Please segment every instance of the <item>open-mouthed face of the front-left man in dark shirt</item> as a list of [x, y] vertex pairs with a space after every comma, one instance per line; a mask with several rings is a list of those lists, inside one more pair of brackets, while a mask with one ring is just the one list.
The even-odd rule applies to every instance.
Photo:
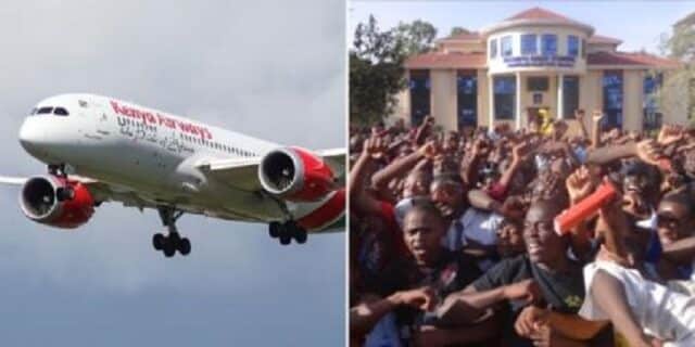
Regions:
[[444, 221], [434, 214], [415, 209], [405, 215], [403, 237], [419, 266], [431, 265], [442, 252], [442, 237], [446, 232]]

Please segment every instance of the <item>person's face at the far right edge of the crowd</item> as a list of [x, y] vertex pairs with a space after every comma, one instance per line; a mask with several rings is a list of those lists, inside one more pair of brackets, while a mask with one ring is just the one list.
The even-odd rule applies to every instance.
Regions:
[[674, 201], [662, 201], [657, 210], [657, 232], [661, 244], [669, 245], [687, 236], [693, 216], [687, 206]]

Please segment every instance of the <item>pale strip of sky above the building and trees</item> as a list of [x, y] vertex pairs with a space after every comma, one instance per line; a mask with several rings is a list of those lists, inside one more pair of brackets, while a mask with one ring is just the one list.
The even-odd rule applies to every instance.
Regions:
[[348, 36], [374, 14], [382, 29], [399, 22], [422, 20], [446, 37], [452, 27], [480, 30], [519, 12], [540, 7], [595, 28], [595, 34], [621, 39], [621, 51], [660, 53], [661, 34], [695, 11], [695, 1], [352, 1], [348, 5]]

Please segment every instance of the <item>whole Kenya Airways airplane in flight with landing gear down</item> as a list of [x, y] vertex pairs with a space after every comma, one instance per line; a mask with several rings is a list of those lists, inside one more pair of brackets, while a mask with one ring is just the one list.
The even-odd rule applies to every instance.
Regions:
[[48, 172], [0, 183], [21, 185], [24, 215], [50, 227], [77, 228], [105, 202], [156, 209], [167, 234], [152, 245], [167, 258], [191, 252], [184, 214], [267, 223], [282, 245], [344, 230], [343, 149], [283, 146], [88, 93], [40, 101], [18, 138]]

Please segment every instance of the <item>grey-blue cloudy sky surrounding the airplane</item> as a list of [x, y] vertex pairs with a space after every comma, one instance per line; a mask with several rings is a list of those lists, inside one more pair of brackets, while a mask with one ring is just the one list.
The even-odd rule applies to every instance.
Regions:
[[[340, 0], [3, 4], [1, 175], [46, 171], [16, 138], [39, 100], [65, 92], [344, 146], [344, 26]], [[0, 187], [3, 345], [343, 345], [344, 233], [283, 247], [264, 224], [184, 216], [192, 253], [165, 259], [152, 210], [103, 204], [64, 231], [27, 220], [17, 195]]]

